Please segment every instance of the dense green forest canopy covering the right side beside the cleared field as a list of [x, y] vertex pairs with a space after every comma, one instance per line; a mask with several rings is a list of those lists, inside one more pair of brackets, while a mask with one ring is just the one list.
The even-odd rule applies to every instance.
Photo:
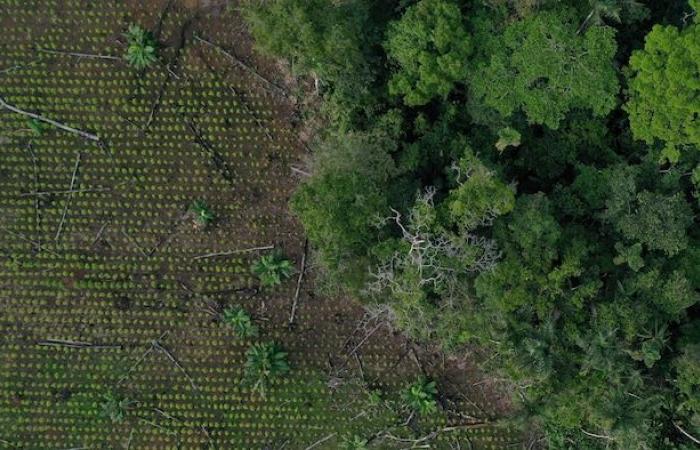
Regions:
[[700, 438], [700, 2], [276, 0], [326, 284], [479, 344], [549, 448]]

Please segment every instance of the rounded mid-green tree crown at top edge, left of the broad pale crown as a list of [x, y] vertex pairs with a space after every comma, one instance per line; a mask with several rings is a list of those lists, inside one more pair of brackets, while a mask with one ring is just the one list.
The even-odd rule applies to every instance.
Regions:
[[409, 6], [389, 25], [385, 47], [398, 64], [389, 92], [403, 96], [407, 105], [445, 98], [455, 83], [466, 80], [472, 43], [456, 1], [420, 0]]

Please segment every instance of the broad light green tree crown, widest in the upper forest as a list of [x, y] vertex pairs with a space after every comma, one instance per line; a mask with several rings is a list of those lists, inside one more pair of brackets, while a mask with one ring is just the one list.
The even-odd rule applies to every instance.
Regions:
[[573, 11], [542, 11], [495, 38], [480, 34], [491, 42], [470, 77], [476, 99], [503, 117], [522, 111], [528, 122], [552, 129], [573, 109], [607, 115], [618, 91], [614, 30], [577, 35], [576, 26]]

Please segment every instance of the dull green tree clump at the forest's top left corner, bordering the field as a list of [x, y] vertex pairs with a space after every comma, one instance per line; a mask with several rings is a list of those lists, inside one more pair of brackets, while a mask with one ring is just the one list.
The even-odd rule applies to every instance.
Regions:
[[315, 78], [333, 127], [347, 130], [372, 114], [381, 95], [371, 64], [381, 39], [375, 22], [384, 10], [367, 0], [249, 0], [243, 12], [258, 50]]

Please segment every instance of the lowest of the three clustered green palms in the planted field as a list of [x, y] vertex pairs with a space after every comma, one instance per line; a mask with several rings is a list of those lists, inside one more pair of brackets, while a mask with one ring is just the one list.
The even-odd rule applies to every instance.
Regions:
[[274, 342], [255, 344], [246, 352], [244, 383], [263, 397], [270, 384], [288, 372], [287, 353]]

